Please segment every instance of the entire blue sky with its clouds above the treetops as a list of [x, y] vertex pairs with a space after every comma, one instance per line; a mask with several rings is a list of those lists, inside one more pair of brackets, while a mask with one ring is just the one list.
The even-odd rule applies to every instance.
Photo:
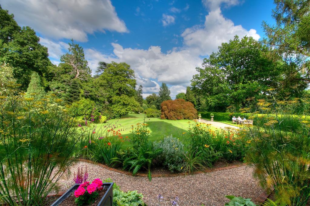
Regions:
[[234, 35], [264, 36], [272, 0], [61, 1], [0, 0], [19, 25], [28, 25], [59, 63], [73, 38], [92, 70], [98, 61], [125, 61], [135, 70], [144, 97], [168, 84], [172, 98], [186, 86], [222, 42]]

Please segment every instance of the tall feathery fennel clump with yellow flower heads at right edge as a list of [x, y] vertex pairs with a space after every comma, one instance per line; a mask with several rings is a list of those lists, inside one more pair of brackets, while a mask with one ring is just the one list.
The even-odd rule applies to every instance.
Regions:
[[[269, 91], [257, 104], [258, 110], [268, 111], [263, 116], [268, 122], [261, 127], [250, 127], [251, 138], [246, 160], [256, 167], [255, 174], [264, 188], [273, 188], [276, 198], [288, 205], [304, 206], [310, 197], [309, 177], [309, 99], [276, 101], [277, 93]], [[303, 113], [292, 114], [303, 105]], [[274, 115], [272, 115], [274, 114]], [[298, 127], [282, 122], [298, 119]], [[289, 129], [288, 129], [289, 128]]]

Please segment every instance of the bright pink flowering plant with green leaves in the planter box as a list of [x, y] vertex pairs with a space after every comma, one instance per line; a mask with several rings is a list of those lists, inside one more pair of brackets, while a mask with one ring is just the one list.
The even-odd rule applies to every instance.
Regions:
[[79, 206], [90, 205], [95, 202], [95, 199], [99, 196], [98, 191], [102, 189], [102, 181], [100, 179], [95, 179], [91, 183], [84, 182], [74, 191], [74, 196], [76, 197], [74, 202]]

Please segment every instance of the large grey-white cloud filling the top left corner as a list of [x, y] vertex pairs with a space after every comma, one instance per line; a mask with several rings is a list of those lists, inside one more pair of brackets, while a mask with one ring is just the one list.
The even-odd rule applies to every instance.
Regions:
[[87, 34], [105, 30], [128, 32], [110, 0], [0, 0], [15, 20], [47, 37], [86, 42]]

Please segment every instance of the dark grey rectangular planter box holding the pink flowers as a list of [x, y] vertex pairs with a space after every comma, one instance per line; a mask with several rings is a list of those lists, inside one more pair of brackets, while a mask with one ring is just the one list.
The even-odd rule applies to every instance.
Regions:
[[[74, 194], [74, 191], [78, 189], [80, 184], [74, 184], [69, 190], [67, 190], [63, 195], [60, 196], [51, 206], [58, 206], [67, 197]], [[97, 206], [113, 206], [113, 182], [103, 183], [102, 186], [107, 188], [107, 191], [101, 198]]]

